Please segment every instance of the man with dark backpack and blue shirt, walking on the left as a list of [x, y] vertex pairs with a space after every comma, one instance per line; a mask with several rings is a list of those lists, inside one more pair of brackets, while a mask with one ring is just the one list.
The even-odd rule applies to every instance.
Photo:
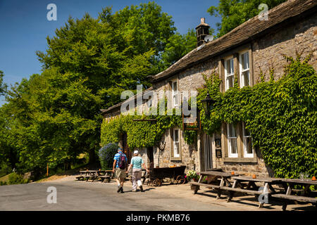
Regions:
[[[118, 193], [123, 193], [123, 183], [125, 182], [125, 169], [128, 165], [128, 159], [125, 153], [122, 152], [122, 148], [118, 148], [118, 153], [113, 158], [113, 169], [112, 172], [116, 174], [116, 181], [118, 184]], [[115, 172], [116, 170], [116, 172]]]

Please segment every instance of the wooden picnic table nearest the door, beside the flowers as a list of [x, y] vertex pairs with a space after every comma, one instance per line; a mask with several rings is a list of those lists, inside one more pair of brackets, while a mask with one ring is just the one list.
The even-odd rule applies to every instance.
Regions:
[[[219, 185], [203, 184], [202, 179], [204, 176], [216, 176], [216, 177], [220, 178], [220, 184]], [[194, 191], [194, 194], [197, 193], [200, 186], [206, 186], [208, 188], [213, 188], [213, 189], [218, 190], [217, 197], [216, 197], [216, 199], [218, 199], [218, 198], [220, 198], [220, 195], [221, 195], [221, 188], [225, 187], [225, 185], [227, 185], [228, 187], [232, 186], [230, 181], [228, 181], [228, 179], [230, 179], [230, 177], [232, 177], [232, 176], [237, 176], [237, 175], [234, 175], [234, 174], [232, 175], [231, 173], [228, 173], [228, 172], [218, 172], [218, 171], [200, 172], [198, 182], [191, 181], [191, 182], [189, 182], [189, 184], [192, 184], [192, 190]]]

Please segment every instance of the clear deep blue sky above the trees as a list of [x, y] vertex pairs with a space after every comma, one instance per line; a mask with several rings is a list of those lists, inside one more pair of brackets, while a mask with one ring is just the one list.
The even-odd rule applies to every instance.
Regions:
[[[97, 18], [101, 8], [113, 6], [113, 12], [125, 6], [138, 5], [149, 1], [125, 0], [0, 0], [0, 70], [4, 72], [4, 82], [14, 84], [23, 77], [41, 72], [41, 63], [35, 51], [46, 50], [46, 37], [53, 37], [56, 28], [65, 25], [68, 17], [82, 18], [86, 12]], [[220, 18], [207, 13], [210, 6], [217, 6], [218, 0], [157, 0], [162, 11], [173, 16], [178, 32], [185, 34], [189, 28], [199, 25], [200, 18], [216, 28]], [[46, 14], [48, 4], [56, 4], [57, 20], [49, 21]], [[0, 105], [4, 98], [0, 98]]]

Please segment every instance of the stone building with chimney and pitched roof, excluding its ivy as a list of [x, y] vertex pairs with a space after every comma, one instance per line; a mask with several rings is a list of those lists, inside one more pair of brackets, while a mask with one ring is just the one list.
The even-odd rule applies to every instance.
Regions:
[[[295, 51], [304, 56], [312, 53], [310, 63], [317, 70], [316, 9], [317, 1], [314, 0], [286, 1], [268, 11], [268, 20], [256, 16], [223, 37], [208, 42], [204, 38], [209, 25], [201, 19], [196, 27], [197, 48], [151, 77], [149, 90], [157, 93], [170, 90], [172, 107], [177, 107], [182, 99], [178, 91], [200, 88], [204, 84], [202, 74], [216, 72], [222, 80], [220, 91], [223, 92], [233, 85], [235, 74], [240, 87], [254, 86], [259, 82], [261, 71], [266, 81], [269, 79], [270, 68], [275, 70], [275, 79], [280, 79], [286, 63], [283, 55], [295, 56]], [[104, 120], [119, 115], [122, 104], [101, 110]], [[127, 149], [124, 134], [120, 140]], [[223, 123], [221, 131], [212, 136], [200, 131], [197, 143], [192, 145], [185, 143], [181, 127], [166, 131], [161, 141], [165, 143], [164, 150], [159, 150], [159, 146], [140, 150], [145, 162], [155, 167], [186, 165], [187, 169], [197, 172], [222, 168], [237, 174], [273, 176], [261, 158], [261, 151], [252, 148], [251, 136], [243, 122]]]

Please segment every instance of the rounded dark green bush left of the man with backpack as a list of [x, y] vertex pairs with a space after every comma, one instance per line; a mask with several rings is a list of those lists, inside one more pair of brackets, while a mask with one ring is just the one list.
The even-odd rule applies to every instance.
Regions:
[[112, 169], [113, 156], [118, 152], [118, 144], [108, 143], [106, 146], [99, 149], [99, 160], [101, 169]]

